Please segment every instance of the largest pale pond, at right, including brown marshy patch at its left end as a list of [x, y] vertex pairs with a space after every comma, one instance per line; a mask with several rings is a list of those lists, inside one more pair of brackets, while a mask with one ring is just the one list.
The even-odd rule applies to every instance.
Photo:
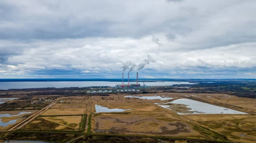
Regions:
[[167, 103], [155, 103], [163, 108], [173, 110], [179, 115], [186, 114], [247, 114], [233, 109], [219, 107], [212, 104], [190, 99], [177, 99]]

